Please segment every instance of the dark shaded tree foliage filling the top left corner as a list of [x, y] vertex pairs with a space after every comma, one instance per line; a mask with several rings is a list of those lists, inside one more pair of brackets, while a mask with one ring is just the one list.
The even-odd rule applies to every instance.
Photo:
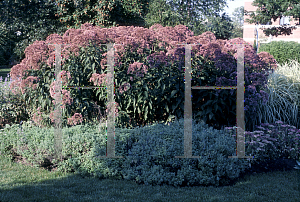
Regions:
[[[36, 40], [45, 40], [52, 33], [67, 30], [55, 16], [55, 7], [48, 0], [18, 0], [0, 2], [0, 21], [5, 34], [0, 35], [5, 43], [4, 57], [20, 61], [25, 57], [25, 48]], [[19, 34], [16, 34], [16, 33]], [[3, 56], [3, 55], [2, 55]]]

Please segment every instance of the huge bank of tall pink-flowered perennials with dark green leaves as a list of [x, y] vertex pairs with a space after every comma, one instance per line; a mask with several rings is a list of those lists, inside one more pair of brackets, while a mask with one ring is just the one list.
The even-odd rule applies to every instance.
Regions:
[[[116, 43], [115, 113], [123, 115], [126, 118], [125, 122], [130, 126], [151, 124], [158, 120], [167, 121], [174, 115], [178, 118], [183, 117], [185, 48], [177, 46], [179, 43], [201, 44], [192, 46], [192, 86], [236, 85], [236, 44], [245, 45], [247, 127], [256, 118], [258, 100], [267, 101], [268, 95], [261, 88], [266, 83], [269, 68], [276, 68], [271, 55], [265, 52], [256, 55], [253, 47], [245, 44], [241, 38], [216, 40], [211, 32], [193, 36], [193, 32], [183, 25], [174, 28], [156, 24], [150, 29], [132, 26], [106, 29], [86, 23], [81, 29], [67, 30], [63, 36], [51, 34], [46, 41], [34, 42], [26, 48], [25, 59], [12, 68], [11, 77], [18, 80], [12, 83], [11, 88], [19, 88], [14, 93], [22, 94], [28, 107], [37, 113], [41, 112], [35, 117], [31, 114], [32, 119], [45, 115], [48, 118], [43, 118], [43, 123], [39, 124], [50, 127], [53, 123], [54, 98], [50, 92], [55, 82], [77, 87], [104, 85], [103, 79], [109, 75], [105, 66], [107, 47], [100, 44], [109, 42]], [[49, 44], [65, 44], [61, 49], [63, 77], [59, 81], [54, 81], [55, 50], [54, 45]], [[235, 125], [234, 91], [193, 92], [193, 111], [197, 112], [197, 118], [212, 125]], [[105, 88], [64, 88], [61, 93], [65, 125], [83, 124], [97, 118], [92, 116], [96, 101], [100, 101], [99, 106], [102, 109], [107, 107]], [[38, 107], [39, 112], [36, 110]], [[120, 117], [116, 116], [117, 122], [120, 121]], [[228, 117], [229, 121], [225, 120], [225, 117]]]

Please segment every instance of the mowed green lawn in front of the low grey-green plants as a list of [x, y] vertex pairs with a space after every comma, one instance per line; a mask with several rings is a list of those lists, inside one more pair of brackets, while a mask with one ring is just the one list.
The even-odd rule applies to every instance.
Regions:
[[133, 181], [49, 172], [0, 158], [0, 201], [299, 201], [299, 170], [246, 175], [223, 187], [138, 185]]

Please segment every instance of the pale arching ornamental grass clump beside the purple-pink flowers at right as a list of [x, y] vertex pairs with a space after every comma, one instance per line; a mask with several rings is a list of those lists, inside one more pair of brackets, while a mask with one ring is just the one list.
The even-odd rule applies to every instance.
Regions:
[[259, 105], [260, 122], [281, 120], [299, 129], [300, 64], [296, 60], [278, 64], [276, 71], [268, 76], [264, 91], [269, 94], [269, 99], [266, 104]]

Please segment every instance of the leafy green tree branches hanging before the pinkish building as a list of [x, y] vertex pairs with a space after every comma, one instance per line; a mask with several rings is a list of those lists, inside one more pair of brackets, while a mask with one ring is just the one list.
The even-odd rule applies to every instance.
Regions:
[[[292, 16], [295, 21], [299, 20], [296, 25], [300, 25], [300, 2], [299, 0], [254, 0], [253, 6], [258, 7], [256, 13], [250, 14], [250, 19], [246, 19], [246, 22], [250, 24], [266, 24], [274, 22], [277, 18], [283, 16]], [[245, 10], [246, 14], [249, 11]], [[272, 25], [272, 22], [270, 23]], [[281, 25], [280, 27], [272, 28], [260, 28], [266, 36], [278, 36], [278, 35], [290, 35], [292, 30], [297, 29], [296, 26]]]

